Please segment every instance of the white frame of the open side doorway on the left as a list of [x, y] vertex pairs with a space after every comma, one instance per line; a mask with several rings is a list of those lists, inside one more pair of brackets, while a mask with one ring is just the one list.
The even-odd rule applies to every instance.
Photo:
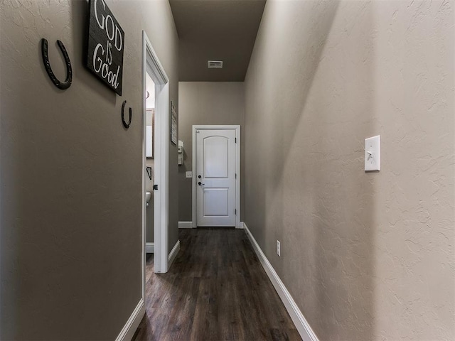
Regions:
[[147, 65], [155, 83], [154, 272], [168, 271], [168, 163], [169, 78], [145, 31], [142, 31], [142, 297], [145, 298], [146, 263], [146, 74]]

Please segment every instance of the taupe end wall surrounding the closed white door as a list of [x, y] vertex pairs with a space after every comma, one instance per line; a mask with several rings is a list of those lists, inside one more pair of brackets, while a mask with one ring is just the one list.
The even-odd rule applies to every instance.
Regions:
[[178, 167], [178, 213], [181, 222], [191, 221], [192, 187], [185, 172], [193, 168], [194, 124], [240, 124], [240, 219], [243, 217], [245, 144], [245, 93], [243, 82], [179, 82], [178, 139], [185, 143], [183, 165]]

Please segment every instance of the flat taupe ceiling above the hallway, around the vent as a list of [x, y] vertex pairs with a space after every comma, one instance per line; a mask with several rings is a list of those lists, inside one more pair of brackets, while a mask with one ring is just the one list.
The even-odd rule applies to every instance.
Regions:
[[[179, 43], [179, 80], [245, 80], [266, 0], [169, 0]], [[223, 69], [208, 69], [223, 60]]]

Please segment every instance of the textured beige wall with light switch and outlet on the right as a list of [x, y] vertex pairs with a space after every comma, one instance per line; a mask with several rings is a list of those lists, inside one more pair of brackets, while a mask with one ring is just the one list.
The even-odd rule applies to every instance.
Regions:
[[245, 222], [320, 340], [455, 340], [453, 7], [267, 1]]

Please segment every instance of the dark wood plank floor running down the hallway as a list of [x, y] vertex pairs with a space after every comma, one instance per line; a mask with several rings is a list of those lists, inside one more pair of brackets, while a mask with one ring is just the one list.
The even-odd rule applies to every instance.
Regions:
[[301, 340], [242, 229], [180, 230], [167, 274], [146, 266], [135, 341]]

